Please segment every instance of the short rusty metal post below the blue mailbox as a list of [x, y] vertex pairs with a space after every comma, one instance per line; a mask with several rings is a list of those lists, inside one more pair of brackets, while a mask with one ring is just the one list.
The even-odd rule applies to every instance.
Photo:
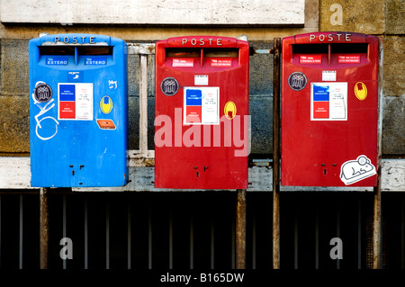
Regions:
[[40, 269], [48, 269], [48, 189], [40, 188]]

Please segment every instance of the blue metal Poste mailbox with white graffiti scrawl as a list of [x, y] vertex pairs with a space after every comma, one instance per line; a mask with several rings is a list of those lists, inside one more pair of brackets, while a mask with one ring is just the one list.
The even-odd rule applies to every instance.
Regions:
[[127, 50], [95, 34], [30, 40], [31, 186], [128, 183]]

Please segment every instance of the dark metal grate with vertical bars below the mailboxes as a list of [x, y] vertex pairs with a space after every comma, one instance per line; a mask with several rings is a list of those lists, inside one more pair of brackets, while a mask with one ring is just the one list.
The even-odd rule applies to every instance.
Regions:
[[[404, 195], [385, 194], [383, 267], [403, 268]], [[370, 268], [373, 196], [281, 193], [281, 268]], [[37, 194], [0, 196], [0, 268], [40, 266]], [[49, 269], [235, 268], [236, 193], [49, 193]], [[272, 268], [272, 193], [247, 193], [247, 269]], [[331, 238], [343, 259], [329, 256]], [[61, 259], [72, 240], [73, 259]], [[371, 260], [371, 261], [370, 261]]]

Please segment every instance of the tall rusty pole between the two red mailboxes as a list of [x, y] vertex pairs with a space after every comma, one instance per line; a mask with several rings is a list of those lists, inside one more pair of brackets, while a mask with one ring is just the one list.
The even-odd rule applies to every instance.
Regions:
[[274, 40], [273, 70], [273, 268], [280, 269], [280, 49], [281, 39]]

